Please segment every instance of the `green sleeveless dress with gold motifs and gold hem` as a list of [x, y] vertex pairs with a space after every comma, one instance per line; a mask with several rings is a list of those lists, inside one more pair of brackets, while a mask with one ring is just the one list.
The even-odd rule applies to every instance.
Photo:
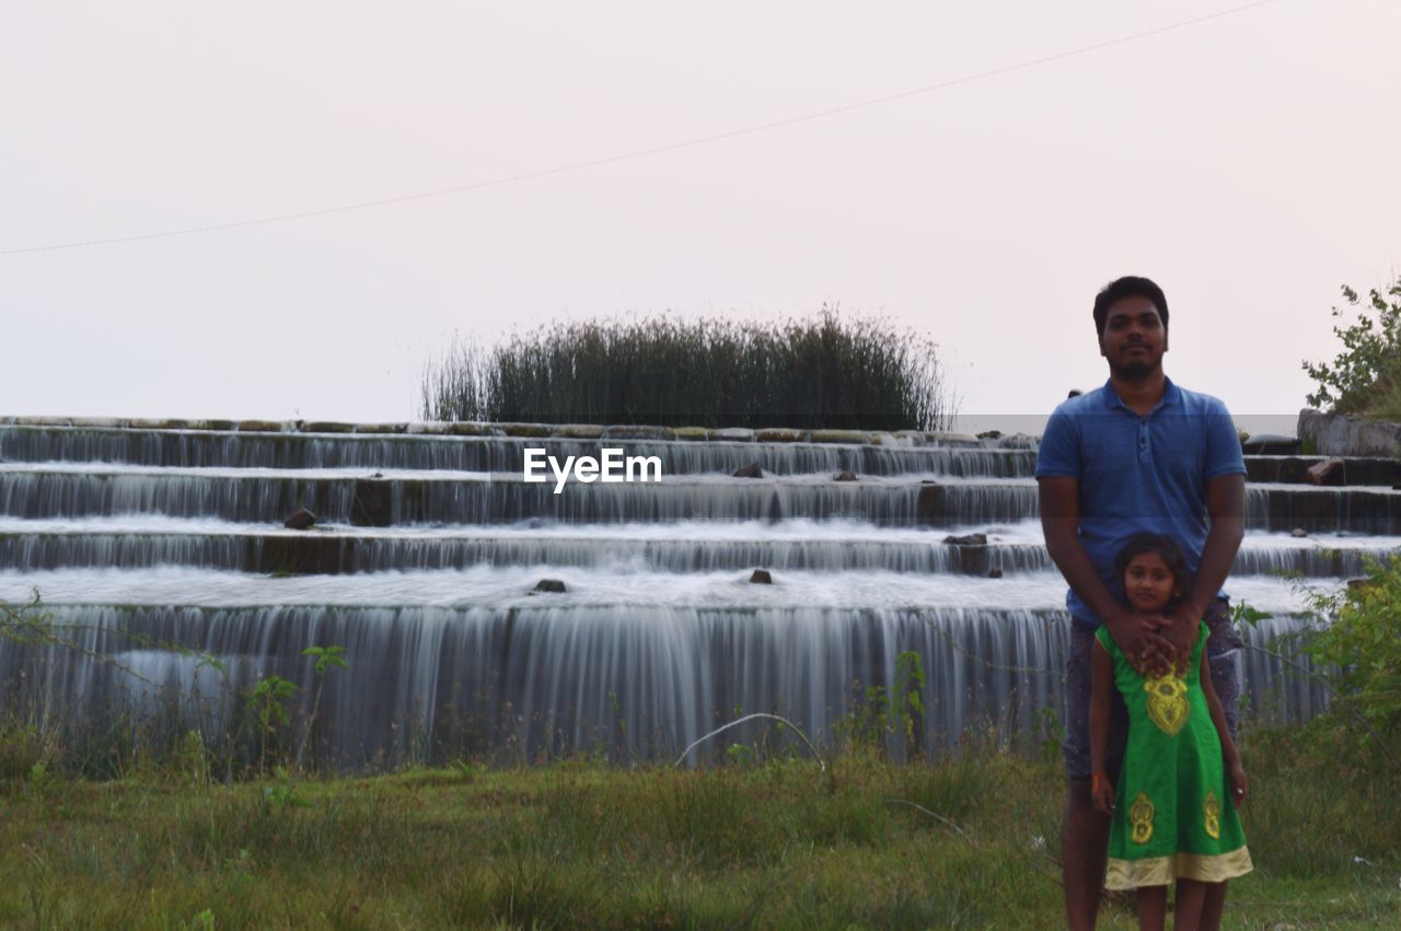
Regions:
[[1096, 633], [1114, 661], [1114, 685], [1129, 711], [1110, 829], [1108, 889], [1166, 886], [1174, 879], [1223, 882], [1251, 871], [1220, 736], [1201, 686], [1209, 636], [1202, 624], [1185, 676], [1145, 679], [1107, 627]]

